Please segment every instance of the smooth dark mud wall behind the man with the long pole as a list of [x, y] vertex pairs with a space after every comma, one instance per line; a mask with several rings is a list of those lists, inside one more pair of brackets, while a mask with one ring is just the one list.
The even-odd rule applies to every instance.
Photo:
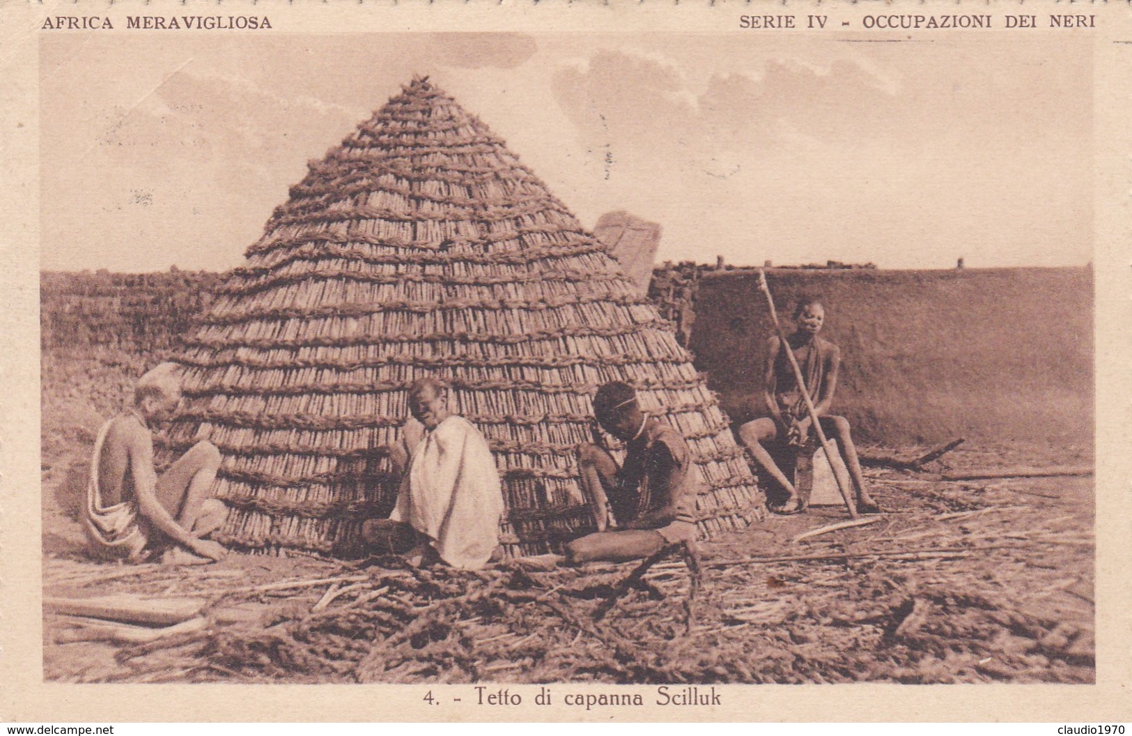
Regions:
[[[826, 306], [841, 346], [833, 409], [863, 439], [1091, 444], [1092, 272], [770, 269], [780, 317]], [[771, 334], [757, 273], [705, 274], [689, 348], [734, 420], [758, 411]]]

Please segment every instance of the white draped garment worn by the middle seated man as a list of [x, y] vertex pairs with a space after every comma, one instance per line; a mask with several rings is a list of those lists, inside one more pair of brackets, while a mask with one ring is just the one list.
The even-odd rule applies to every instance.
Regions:
[[499, 544], [501, 515], [499, 472], [483, 435], [456, 414], [427, 430], [389, 519], [427, 536], [453, 567], [477, 570]]

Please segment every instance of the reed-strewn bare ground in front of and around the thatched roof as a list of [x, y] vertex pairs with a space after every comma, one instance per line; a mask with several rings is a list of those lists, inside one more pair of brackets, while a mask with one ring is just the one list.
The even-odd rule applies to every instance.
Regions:
[[[63, 365], [71, 366], [62, 368]], [[45, 594], [198, 597], [204, 627], [149, 644], [63, 643], [44, 616], [43, 675], [60, 682], [1089, 683], [1091, 478], [941, 481], [869, 471], [880, 522], [812, 510], [702, 545], [701, 589], [677, 556], [602, 606], [633, 565], [480, 573], [231, 556], [205, 567], [91, 562], [76, 522], [85, 462], [137, 366], [44, 362]], [[93, 384], [93, 385], [92, 385]], [[915, 456], [918, 448], [873, 448]], [[1089, 446], [964, 445], [927, 470], [1091, 462]], [[784, 559], [807, 557], [807, 559]], [[309, 584], [331, 577], [346, 580]], [[264, 590], [298, 581], [302, 587]], [[312, 611], [333, 585], [336, 598]]]

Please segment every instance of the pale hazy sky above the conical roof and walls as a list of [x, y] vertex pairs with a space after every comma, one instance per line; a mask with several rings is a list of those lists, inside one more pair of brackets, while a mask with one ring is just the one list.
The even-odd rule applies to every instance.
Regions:
[[41, 267], [241, 265], [413, 75], [584, 226], [660, 223], [658, 260], [1086, 264], [1090, 46], [1019, 37], [44, 35]]

